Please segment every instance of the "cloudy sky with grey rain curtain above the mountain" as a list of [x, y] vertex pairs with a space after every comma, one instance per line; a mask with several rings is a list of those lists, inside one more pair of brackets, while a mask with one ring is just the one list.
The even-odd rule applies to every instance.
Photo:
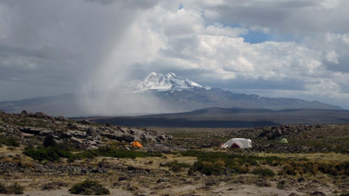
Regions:
[[152, 71], [349, 109], [348, 0], [0, 0], [0, 101]]

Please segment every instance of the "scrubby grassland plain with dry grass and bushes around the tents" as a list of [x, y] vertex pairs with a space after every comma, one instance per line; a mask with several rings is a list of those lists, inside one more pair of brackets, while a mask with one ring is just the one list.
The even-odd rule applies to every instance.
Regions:
[[[25, 195], [73, 195], [69, 189], [82, 184], [98, 184], [105, 187], [98, 193], [110, 195], [349, 194], [346, 124], [151, 128], [173, 140], [144, 143], [144, 148], [104, 140], [97, 149], [77, 150], [9, 133], [9, 123], [53, 123], [17, 117], [0, 122], [0, 188], [5, 195], [16, 187], [23, 187]], [[269, 133], [274, 135], [266, 139]], [[234, 137], [250, 138], [253, 148], [219, 148]], [[280, 143], [281, 138], [288, 143]]]

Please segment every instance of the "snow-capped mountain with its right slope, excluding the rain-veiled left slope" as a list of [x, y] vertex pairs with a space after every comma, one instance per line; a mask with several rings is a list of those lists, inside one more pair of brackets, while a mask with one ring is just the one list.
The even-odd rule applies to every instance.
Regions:
[[[170, 110], [196, 110], [205, 107], [225, 108], [265, 108], [272, 110], [311, 108], [311, 109], [342, 109], [318, 101], [304, 101], [293, 98], [268, 98], [259, 95], [236, 94], [220, 88], [206, 87], [189, 79], [182, 80], [174, 73], [150, 73], [141, 80], [133, 80], [110, 89], [115, 94], [128, 94], [140, 97], [147, 94], [152, 102]], [[138, 93], [134, 95], [134, 93]]]

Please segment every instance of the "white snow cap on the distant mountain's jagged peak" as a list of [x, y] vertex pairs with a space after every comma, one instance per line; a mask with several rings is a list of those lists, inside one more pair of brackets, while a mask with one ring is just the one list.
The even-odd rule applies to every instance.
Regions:
[[151, 72], [142, 80], [133, 80], [122, 84], [122, 92], [144, 92], [147, 90], [156, 91], [181, 91], [194, 88], [204, 88], [210, 90], [210, 87], [205, 87], [195, 83], [189, 79], [181, 80], [174, 73], [157, 74]]

